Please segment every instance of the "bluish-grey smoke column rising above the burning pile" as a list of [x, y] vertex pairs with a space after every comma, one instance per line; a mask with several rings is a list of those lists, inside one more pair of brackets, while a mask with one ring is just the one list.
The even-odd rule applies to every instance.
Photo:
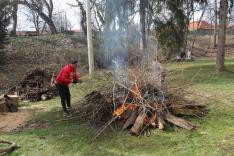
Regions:
[[125, 0], [107, 0], [103, 37], [103, 66], [120, 68], [128, 65], [128, 5]]

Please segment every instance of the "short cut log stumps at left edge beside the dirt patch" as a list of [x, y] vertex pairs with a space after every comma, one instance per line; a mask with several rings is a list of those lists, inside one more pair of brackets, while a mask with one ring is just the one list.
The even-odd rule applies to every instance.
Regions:
[[0, 112], [17, 112], [19, 107], [19, 97], [17, 95], [0, 96]]

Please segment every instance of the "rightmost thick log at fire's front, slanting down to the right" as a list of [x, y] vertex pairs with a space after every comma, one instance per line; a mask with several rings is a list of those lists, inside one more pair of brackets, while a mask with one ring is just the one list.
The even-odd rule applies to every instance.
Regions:
[[169, 113], [165, 114], [165, 119], [168, 122], [170, 122], [170, 123], [172, 123], [174, 125], [177, 125], [179, 127], [182, 127], [184, 129], [187, 129], [187, 130], [192, 130], [192, 129], [195, 128], [195, 126], [192, 123], [190, 123], [190, 122], [188, 122], [188, 121], [186, 121], [186, 120], [184, 120], [182, 118], [178, 118], [178, 117], [176, 117], [174, 115], [171, 115]]

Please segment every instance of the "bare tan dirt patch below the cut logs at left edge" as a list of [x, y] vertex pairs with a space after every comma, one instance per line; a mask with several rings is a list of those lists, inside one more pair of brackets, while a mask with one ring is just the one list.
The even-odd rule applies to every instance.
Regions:
[[0, 132], [9, 132], [22, 126], [29, 117], [29, 112], [20, 110], [16, 113], [0, 114]]

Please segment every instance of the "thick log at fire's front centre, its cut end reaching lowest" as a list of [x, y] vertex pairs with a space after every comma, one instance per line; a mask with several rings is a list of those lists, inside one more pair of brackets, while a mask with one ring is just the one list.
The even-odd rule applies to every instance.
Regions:
[[141, 110], [140, 114], [136, 118], [136, 121], [135, 121], [133, 127], [130, 130], [133, 134], [135, 134], [135, 135], [140, 134], [141, 129], [142, 129], [143, 125], [144, 125], [145, 117], [146, 117], [145, 111]]

